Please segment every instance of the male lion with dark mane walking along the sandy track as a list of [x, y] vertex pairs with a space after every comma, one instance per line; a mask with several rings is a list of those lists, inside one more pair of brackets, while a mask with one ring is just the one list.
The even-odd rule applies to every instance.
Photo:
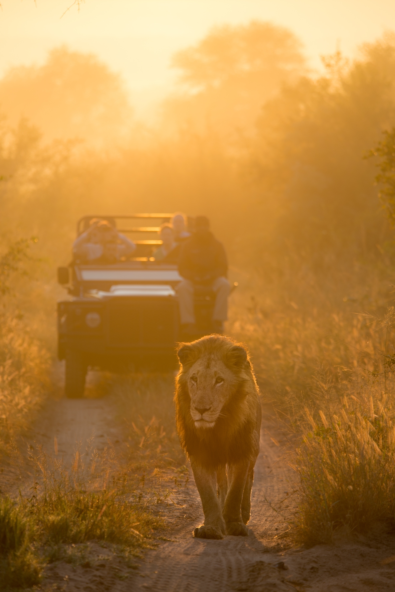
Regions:
[[205, 522], [193, 536], [247, 536], [261, 403], [248, 353], [219, 335], [181, 343], [177, 432], [189, 456]]

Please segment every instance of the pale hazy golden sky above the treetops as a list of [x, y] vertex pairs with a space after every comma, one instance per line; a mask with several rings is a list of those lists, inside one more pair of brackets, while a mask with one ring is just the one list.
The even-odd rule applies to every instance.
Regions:
[[1, 0], [0, 75], [12, 65], [42, 63], [53, 46], [98, 54], [138, 91], [168, 86], [171, 54], [213, 25], [251, 19], [285, 25], [305, 44], [310, 65], [339, 44], [358, 44], [395, 30], [395, 0]]

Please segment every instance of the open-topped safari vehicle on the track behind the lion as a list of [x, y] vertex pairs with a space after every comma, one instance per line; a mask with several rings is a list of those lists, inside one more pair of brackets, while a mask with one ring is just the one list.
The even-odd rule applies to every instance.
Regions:
[[[173, 214], [85, 216], [77, 223], [77, 237], [93, 218], [108, 221], [133, 240], [130, 258], [114, 264], [72, 260], [58, 268], [58, 280], [71, 298], [57, 305], [58, 357], [66, 361], [67, 397], [82, 397], [88, 368], [110, 371], [176, 368], [174, 346], [179, 334], [175, 288], [181, 281], [176, 265], [152, 256], [161, 241], [160, 225]], [[193, 220], [189, 219], [189, 228]], [[211, 333], [214, 294], [195, 295], [196, 325], [200, 335]]]

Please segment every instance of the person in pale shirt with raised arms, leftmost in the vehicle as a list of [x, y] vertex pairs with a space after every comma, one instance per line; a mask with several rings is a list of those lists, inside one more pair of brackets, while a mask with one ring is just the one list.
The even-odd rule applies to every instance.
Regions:
[[88, 230], [82, 233], [73, 244], [73, 256], [76, 259], [93, 262], [103, 255], [104, 245], [116, 242], [117, 258], [128, 257], [136, 246], [134, 242], [118, 233], [106, 220], [93, 219]]

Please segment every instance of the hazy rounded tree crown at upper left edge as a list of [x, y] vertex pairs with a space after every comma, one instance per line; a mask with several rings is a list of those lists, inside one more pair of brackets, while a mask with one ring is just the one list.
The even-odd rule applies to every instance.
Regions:
[[114, 72], [92, 54], [51, 50], [43, 66], [13, 67], [0, 81], [9, 122], [27, 117], [44, 139], [79, 137], [104, 146], [127, 134], [131, 107]]

